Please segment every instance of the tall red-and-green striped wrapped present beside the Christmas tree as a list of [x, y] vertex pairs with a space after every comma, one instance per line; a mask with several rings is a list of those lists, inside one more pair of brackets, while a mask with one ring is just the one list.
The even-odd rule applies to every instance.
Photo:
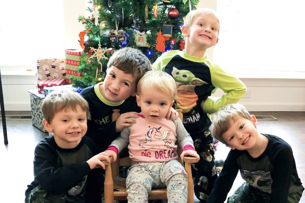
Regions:
[[81, 51], [77, 49], [66, 49], [66, 82], [71, 84], [70, 77], [73, 75], [76, 79], [81, 79], [82, 73], [76, 72], [81, 61]]

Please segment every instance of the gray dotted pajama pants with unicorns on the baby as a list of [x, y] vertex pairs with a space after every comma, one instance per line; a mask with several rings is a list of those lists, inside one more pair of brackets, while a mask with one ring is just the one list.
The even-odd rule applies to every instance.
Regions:
[[148, 202], [152, 188], [167, 187], [167, 201], [170, 203], [187, 202], [188, 175], [177, 160], [153, 163], [134, 163], [127, 172], [127, 200]]

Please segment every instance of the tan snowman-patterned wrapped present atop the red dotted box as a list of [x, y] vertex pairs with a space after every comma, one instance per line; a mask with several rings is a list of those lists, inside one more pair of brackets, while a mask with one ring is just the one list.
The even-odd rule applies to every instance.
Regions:
[[37, 80], [44, 79], [66, 79], [65, 59], [38, 59], [37, 60]]

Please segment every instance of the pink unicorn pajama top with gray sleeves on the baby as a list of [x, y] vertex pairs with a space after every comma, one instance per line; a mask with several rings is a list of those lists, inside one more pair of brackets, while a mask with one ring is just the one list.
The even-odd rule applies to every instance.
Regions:
[[119, 153], [128, 145], [133, 163], [177, 160], [176, 141], [183, 150], [194, 149], [192, 138], [180, 119], [171, 121], [163, 118], [151, 122], [139, 114], [135, 120], [137, 122], [124, 128], [108, 149]]

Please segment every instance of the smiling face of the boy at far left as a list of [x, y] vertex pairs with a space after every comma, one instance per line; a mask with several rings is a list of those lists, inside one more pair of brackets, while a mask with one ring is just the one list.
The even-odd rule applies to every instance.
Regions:
[[45, 129], [54, 133], [54, 139], [61, 148], [76, 147], [87, 132], [86, 111], [80, 106], [76, 111], [68, 108], [56, 113], [50, 124], [45, 119], [43, 122]]

